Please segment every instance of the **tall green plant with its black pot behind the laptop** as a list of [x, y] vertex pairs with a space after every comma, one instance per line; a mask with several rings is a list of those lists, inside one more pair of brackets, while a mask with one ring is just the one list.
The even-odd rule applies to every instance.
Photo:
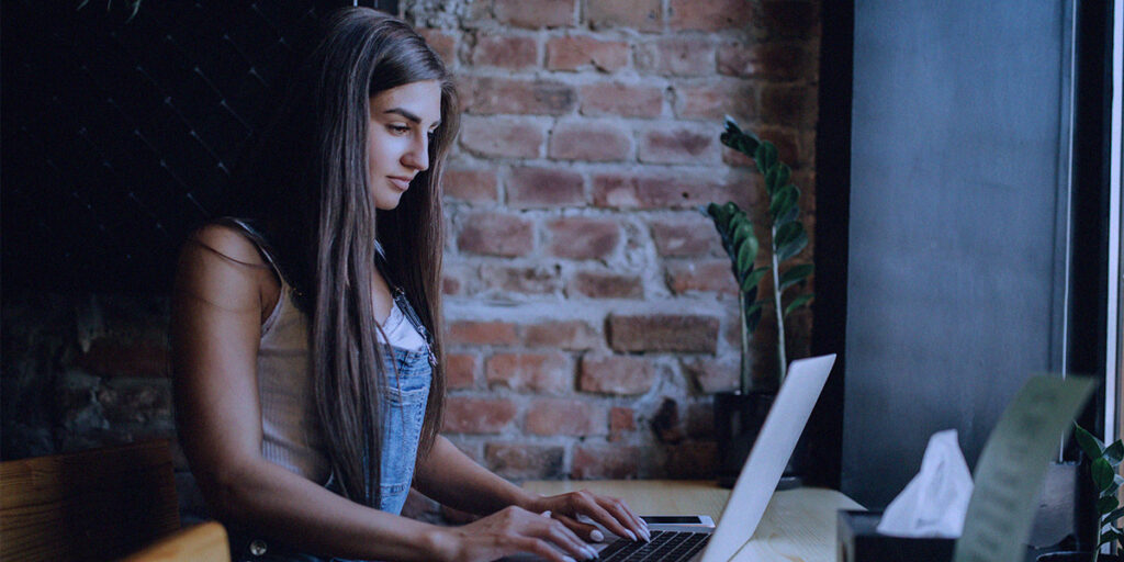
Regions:
[[[807, 306], [813, 294], [804, 290], [812, 275], [812, 264], [791, 262], [808, 245], [808, 234], [800, 220], [800, 190], [794, 185], [791, 169], [780, 162], [777, 147], [743, 132], [729, 117], [719, 139], [722, 144], [752, 158], [764, 176], [769, 196], [767, 211], [769, 237], [762, 245], [754, 232], [753, 221], [733, 202], [710, 203], [703, 212], [714, 220], [722, 238], [722, 246], [729, 256], [734, 280], [737, 283], [737, 310], [741, 328], [740, 389], [737, 392], [715, 395], [715, 434], [718, 439], [718, 482], [733, 486], [742, 463], [756, 438], [761, 424], [769, 413], [777, 390], [785, 381], [788, 361], [785, 346], [785, 318]], [[767, 252], [767, 264], [758, 265], [758, 256]], [[782, 271], [783, 268], [783, 271]], [[762, 281], [770, 279], [769, 294], [759, 300]], [[750, 343], [753, 333], [768, 308], [777, 323], [777, 365], [765, 377], [753, 377]], [[801, 456], [806, 447], [798, 446], [794, 457]], [[797, 463], [798, 464], [798, 463]], [[797, 469], [790, 462], [790, 469]], [[798, 486], [799, 478], [787, 471], [781, 488]]]

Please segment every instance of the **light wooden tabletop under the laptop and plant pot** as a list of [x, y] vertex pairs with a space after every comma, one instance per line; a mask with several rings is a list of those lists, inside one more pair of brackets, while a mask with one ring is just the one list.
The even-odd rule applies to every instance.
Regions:
[[[582, 488], [624, 499], [640, 515], [709, 515], [715, 522], [729, 490], [713, 481], [582, 480], [531, 481], [528, 491], [543, 495]], [[851, 498], [822, 488], [797, 488], [773, 495], [756, 532], [733, 558], [735, 562], [833, 562], [836, 560], [836, 511], [862, 509]]]

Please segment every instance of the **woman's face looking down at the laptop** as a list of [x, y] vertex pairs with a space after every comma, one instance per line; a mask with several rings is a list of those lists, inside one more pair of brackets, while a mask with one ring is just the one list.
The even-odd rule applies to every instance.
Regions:
[[441, 125], [441, 82], [391, 88], [370, 100], [368, 184], [378, 209], [398, 207], [410, 181], [429, 167], [429, 142]]

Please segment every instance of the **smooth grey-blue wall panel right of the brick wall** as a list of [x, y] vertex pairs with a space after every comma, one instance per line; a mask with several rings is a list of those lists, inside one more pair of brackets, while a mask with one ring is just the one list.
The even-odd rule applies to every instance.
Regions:
[[1057, 355], [1061, 3], [855, 2], [841, 486], [867, 507], [936, 430], [975, 466]]

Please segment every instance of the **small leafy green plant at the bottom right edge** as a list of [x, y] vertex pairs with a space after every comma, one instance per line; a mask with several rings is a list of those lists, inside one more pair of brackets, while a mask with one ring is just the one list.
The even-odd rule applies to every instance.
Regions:
[[1102, 546], [1115, 544], [1124, 538], [1124, 532], [1116, 526], [1116, 520], [1124, 517], [1124, 507], [1117, 498], [1117, 491], [1121, 484], [1124, 484], [1124, 477], [1116, 473], [1121, 460], [1124, 459], [1124, 443], [1116, 439], [1105, 446], [1100, 439], [1077, 424], [1073, 424], [1073, 437], [1089, 459], [1089, 473], [1097, 492], [1097, 536], [1091, 543], [1096, 546], [1093, 552], [1053, 552], [1043, 554], [1037, 560], [1039, 562], [1124, 561], [1124, 558], [1117, 554], [1100, 554]]

